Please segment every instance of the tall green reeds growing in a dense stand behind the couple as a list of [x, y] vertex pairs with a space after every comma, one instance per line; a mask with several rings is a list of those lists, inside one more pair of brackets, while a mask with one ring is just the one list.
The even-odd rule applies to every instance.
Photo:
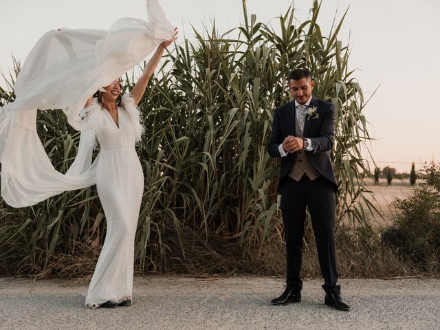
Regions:
[[[369, 140], [366, 101], [349, 67], [349, 48], [338, 40], [345, 15], [323, 36], [319, 12], [314, 1], [310, 19], [295, 25], [288, 8], [276, 19], [278, 33], [249, 17], [243, 0], [244, 25], [222, 35], [214, 24], [194, 30], [194, 42], [185, 40], [164, 58], [140, 103], [146, 127], [137, 145], [145, 174], [135, 239], [140, 271], [228, 271], [282, 240], [279, 161], [266, 144], [275, 107], [289, 100], [287, 74], [296, 67], [313, 72], [315, 95], [337, 109], [331, 157], [340, 186], [338, 224], [369, 226], [361, 203], [374, 208], [364, 198], [362, 175], [368, 172], [361, 155]], [[134, 83], [127, 74], [126, 90]], [[78, 133], [58, 111], [41, 112], [38, 120], [54, 166], [65, 171]], [[0, 260], [10, 272], [50, 270], [60, 260], [54, 255], [74, 254], [77, 245], [96, 250], [104, 239], [94, 187], [32, 208], [1, 208]], [[255, 267], [261, 265], [242, 269]]]

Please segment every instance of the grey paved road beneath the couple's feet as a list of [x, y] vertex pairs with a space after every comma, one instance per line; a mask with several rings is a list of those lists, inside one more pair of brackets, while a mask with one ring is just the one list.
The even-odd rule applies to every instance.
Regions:
[[136, 277], [131, 307], [91, 310], [87, 285], [0, 278], [0, 329], [440, 329], [439, 279], [341, 280], [349, 312], [325, 306], [321, 284], [281, 307], [280, 278]]

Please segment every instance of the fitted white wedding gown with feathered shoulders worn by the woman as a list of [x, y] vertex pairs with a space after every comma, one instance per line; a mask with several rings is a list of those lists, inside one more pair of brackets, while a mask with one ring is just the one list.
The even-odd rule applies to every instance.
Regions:
[[[96, 127], [94, 134], [100, 145], [99, 159], [94, 163], [96, 188], [107, 221], [104, 245], [85, 300], [90, 308], [108, 300], [120, 303], [131, 298], [133, 289], [134, 240], [144, 190], [135, 141], [142, 125], [133, 98], [125, 94], [122, 105], [124, 108], [118, 107], [119, 127], [96, 100], [85, 111], [85, 121]], [[94, 136], [87, 135], [89, 155], [93, 140]]]

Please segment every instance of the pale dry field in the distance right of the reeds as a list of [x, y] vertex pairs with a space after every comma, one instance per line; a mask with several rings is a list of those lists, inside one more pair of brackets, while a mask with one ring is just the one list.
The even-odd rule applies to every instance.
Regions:
[[372, 214], [368, 209], [365, 210], [367, 221], [374, 228], [381, 228], [385, 225], [391, 225], [395, 217], [396, 210], [393, 206], [395, 198], [405, 199], [415, 187], [419, 186], [422, 181], [417, 180], [414, 186], [411, 186], [409, 179], [399, 180], [393, 179], [391, 185], [388, 186], [386, 179], [380, 179], [379, 184], [375, 184], [373, 179], [366, 179], [366, 186], [373, 192], [373, 196], [369, 200], [380, 210], [382, 219], [378, 214]]

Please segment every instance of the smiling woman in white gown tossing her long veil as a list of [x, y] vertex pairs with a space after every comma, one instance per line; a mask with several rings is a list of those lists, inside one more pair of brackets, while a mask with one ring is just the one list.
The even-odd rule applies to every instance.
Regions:
[[[93, 309], [131, 305], [135, 230], [144, 188], [135, 151], [143, 131], [136, 106], [178, 33], [157, 0], [147, 1], [147, 12], [148, 22], [120, 19], [109, 31], [47, 32], [17, 77], [16, 100], [0, 109], [1, 197], [6, 203], [32, 206], [66, 190], [97, 186], [107, 233], [85, 302]], [[115, 77], [156, 47], [131, 94], [122, 95]], [[97, 90], [97, 98], [89, 97]], [[37, 109], [63, 109], [69, 124], [81, 131], [78, 153], [65, 174], [55, 170], [39, 140]], [[91, 164], [95, 140], [100, 153]]]

